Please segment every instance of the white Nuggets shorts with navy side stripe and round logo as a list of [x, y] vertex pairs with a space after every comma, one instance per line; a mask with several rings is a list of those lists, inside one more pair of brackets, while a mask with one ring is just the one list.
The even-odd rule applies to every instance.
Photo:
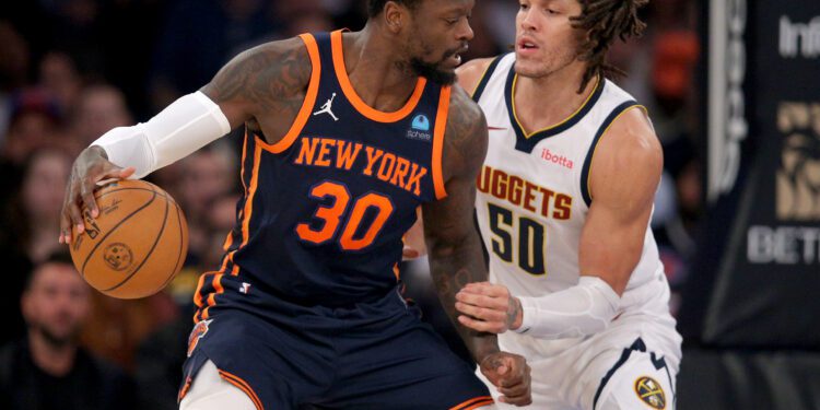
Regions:
[[[584, 339], [499, 336], [502, 350], [527, 358], [532, 368], [530, 408], [539, 410], [671, 410], [681, 340], [670, 315], [643, 313], [624, 314]], [[478, 373], [499, 409], [513, 409], [497, 401], [497, 389]]]

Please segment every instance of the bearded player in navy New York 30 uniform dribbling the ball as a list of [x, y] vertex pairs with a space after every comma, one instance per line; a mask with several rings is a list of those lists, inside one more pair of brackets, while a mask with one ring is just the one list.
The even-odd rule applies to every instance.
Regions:
[[[456, 293], [487, 279], [471, 218], [487, 125], [449, 85], [472, 5], [373, 0], [363, 31], [243, 52], [199, 92], [107, 132], [77, 160], [65, 243], [83, 232], [81, 206], [97, 215], [98, 180], [142, 177], [245, 125], [245, 195], [224, 259], [195, 295], [181, 408], [492, 405], [401, 297], [397, 268], [422, 207], [454, 320]], [[458, 330], [501, 400], [529, 403], [524, 359], [501, 352], [493, 333]]]

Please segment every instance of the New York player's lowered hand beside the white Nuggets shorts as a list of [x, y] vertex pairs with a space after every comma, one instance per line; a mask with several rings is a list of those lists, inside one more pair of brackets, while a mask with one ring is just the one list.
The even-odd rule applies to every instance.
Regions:
[[507, 352], [489, 354], [481, 360], [480, 368], [503, 395], [499, 401], [515, 406], [532, 403], [530, 368], [524, 356]]

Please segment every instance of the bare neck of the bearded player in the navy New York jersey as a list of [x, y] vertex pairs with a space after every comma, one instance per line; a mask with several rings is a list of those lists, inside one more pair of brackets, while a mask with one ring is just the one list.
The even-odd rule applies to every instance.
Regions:
[[367, 105], [382, 112], [395, 112], [405, 106], [419, 78], [400, 68], [396, 46], [371, 24], [361, 32], [343, 36], [348, 78]]

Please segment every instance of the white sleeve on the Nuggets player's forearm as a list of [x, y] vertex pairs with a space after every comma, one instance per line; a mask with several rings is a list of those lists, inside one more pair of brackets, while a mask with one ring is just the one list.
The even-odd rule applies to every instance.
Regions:
[[620, 297], [597, 277], [581, 277], [578, 284], [540, 297], [519, 297], [524, 320], [514, 330], [539, 339], [579, 338], [609, 326]]

